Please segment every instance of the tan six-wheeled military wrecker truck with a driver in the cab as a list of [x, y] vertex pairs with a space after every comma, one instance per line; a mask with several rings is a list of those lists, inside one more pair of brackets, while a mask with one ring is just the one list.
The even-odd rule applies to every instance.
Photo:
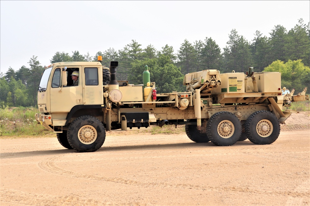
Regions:
[[255, 73], [253, 67], [246, 74], [221, 74], [217, 69], [189, 73], [185, 92], [157, 94], [147, 66], [139, 85], [117, 81], [117, 66], [111, 61], [105, 67], [100, 57], [97, 62], [47, 66], [38, 87], [38, 124], [77, 152], [99, 149], [106, 131], [163, 125], [185, 125], [187, 136], [197, 143], [229, 146], [248, 138], [264, 145], [276, 141], [280, 124], [297, 112], [283, 108], [309, 100], [307, 88], [283, 96], [281, 73]]

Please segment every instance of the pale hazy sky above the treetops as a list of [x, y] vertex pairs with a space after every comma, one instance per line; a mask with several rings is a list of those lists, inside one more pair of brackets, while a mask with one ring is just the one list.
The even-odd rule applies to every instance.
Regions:
[[269, 37], [278, 24], [287, 30], [310, 21], [310, 1], [0, 1], [0, 72], [42, 66], [56, 52], [94, 56], [123, 49], [131, 40], [161, 50], [179, 50], [211, 37], [221, 50], [236, 29], [252, 42], [256, 30]]

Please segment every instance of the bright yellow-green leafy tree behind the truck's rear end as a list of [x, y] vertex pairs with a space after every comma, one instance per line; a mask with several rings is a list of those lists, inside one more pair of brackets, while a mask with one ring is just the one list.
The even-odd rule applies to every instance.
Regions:
[[304, 87], [309, 87], [310, 83], [310, 68], [302, 63], [302, 60], [284, 63], [277, 60], [264, 69], [265, 72], [281, 72], [281, 86], [296, 92], [301, 92]]

